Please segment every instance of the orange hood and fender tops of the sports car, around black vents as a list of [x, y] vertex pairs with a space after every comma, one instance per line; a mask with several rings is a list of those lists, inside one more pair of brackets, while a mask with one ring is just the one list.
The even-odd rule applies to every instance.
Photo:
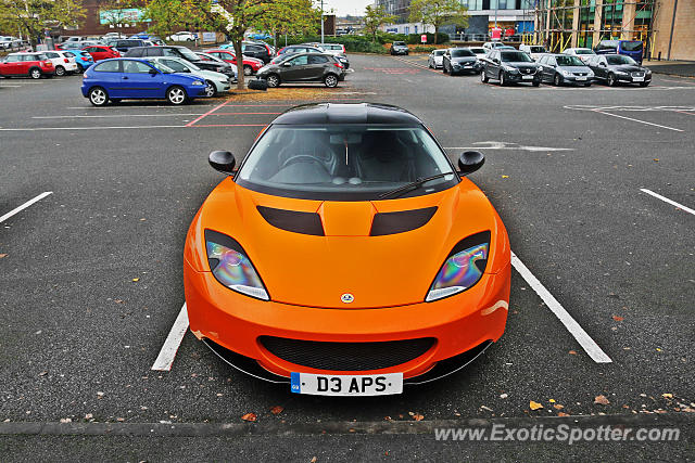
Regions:
[[[309, 213], [314, 220], [320, 219], [325, 235], [285, 230], [287, 217], [274, 226], [268, 209], [263, 208]], [[370, 236], [377, 214], [427, 208], [437, 209], [425, 224]], [[498, 272], [509, 259], [502, 221], [485, 195], [467, 179], [433, 194], [374, 202], [278, 197], [226, 179], [207, 197], [189, 231], [199, 244], [197, 250], [187, 250], [186, 259], [199, 271], [210, 271], [202, 243], [205, 229], [225, 233], [242, 245], [271, 300], [309, 307], [358, 309], [422, 303], [453, 247], [481, 231], [491, 231], [493, 243], [485, 272]], [[354, 304], [341, 301], [345, 293], [354, 296]]]

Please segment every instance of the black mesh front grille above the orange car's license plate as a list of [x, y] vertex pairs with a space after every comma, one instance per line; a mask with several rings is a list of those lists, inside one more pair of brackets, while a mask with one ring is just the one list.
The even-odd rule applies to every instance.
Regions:
[[261, 336], [274, 356], [302, 366], [330, 371], [381, 370], [406, 363], [427, 352], [433, 337], [381, 343], [326, 343]]

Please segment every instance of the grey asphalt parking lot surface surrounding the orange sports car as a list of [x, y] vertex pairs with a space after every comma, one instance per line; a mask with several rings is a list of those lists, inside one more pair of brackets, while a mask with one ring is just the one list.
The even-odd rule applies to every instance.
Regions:
[[[500, 87], [424, 56], [351, 67], [337, 89], [306, 86], [312, 100], [181, 107], [96, 108], [79, 76], [0, 80], [2, 460], [694, 458], [695, 80]], [[505, 335], [456, 375], [387, 398], [292, 395], [185, 331], [163, 353], [170, 370], [152, 370], [185, 301], [186, 231], [223, 179], [207, 154], [241, 160], [277, 114], [309, 101], [396, 104], [452, 159], [485, 154], [471, 179], [517, 256]], [[573, 420], [682, 434], [569, 447], [432, 433]]]

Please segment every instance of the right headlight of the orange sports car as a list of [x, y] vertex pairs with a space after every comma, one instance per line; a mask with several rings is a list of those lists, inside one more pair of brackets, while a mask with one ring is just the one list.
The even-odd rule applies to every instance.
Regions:
[[490, 232], [478, 233], [460, 241], [440, 269], [426, 303], [462, 293], [481, 279], [488, 263]]

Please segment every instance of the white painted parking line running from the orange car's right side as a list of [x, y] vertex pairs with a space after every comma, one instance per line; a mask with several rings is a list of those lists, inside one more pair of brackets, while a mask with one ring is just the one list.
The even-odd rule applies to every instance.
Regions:
[[527, 283], [543, 299], [545, 305], [551, 309], [555, 317], [565, 325], [567, 331], [574, 336], [584, 351], [589, 353], [596, 363], [611, 363], [610, 357], [604, 352], [601, 347], [591, 338], [583, 327], [569, 314], [567, 310], [557, 301], [557, 299], [543, 286], [543, 284], [531, 273], [516, 254], [511, 253], [511, 266], [526, 280]]

